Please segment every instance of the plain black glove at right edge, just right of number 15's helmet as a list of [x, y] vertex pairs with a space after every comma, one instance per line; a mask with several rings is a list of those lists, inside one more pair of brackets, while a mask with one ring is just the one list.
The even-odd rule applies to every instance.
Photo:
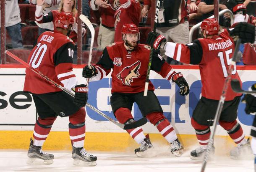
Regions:
[[230, 36], [239, 36], [241, 43], [254, 43], [255, 25], [240, 22], [234, 28], [229, 29]]

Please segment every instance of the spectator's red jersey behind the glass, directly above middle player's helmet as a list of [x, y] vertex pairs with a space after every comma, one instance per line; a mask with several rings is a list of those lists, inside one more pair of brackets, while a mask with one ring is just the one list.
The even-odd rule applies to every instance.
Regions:
[[133, 23], [138, 26], [141, 16], [141, 7], [138, 0], [120, 0], [120, 8], [115, 12], [115, 39], [122, 41], [121, 30], [124, 24]]

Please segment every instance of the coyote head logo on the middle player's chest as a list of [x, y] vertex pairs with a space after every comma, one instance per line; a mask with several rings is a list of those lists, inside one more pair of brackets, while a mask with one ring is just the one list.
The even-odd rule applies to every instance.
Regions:
[[131, 86], [131, 82], [133, 82], [133, 78], [138, 78], [140, 74], [138, 73], [138, 69], [141, 67], [141, 62], [137, 61], [133, 63], [131, 66], [127, 66], [123, 68], [120, 73], [117, 74], [118, 79], [120, 79], [124, 85]]

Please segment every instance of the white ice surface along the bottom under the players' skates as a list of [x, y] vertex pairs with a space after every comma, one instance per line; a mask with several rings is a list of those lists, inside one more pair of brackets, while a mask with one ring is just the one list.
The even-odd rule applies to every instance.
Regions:
[[[94, 153], [98, 160], [95, 167], [77, 167], [72, 164], [71, 152], [48, 151], [54, 154], [50, 165], [26, 164], [26, 151], [0, 151], [0, 172], [200, 172], [201, 162], [191, 160], [189, 152], [182, 157], [158, 156], [139, 158], [132, 153]], [[215, 156], [208, 162], [205, 172], [254, 172], [253, 157], [232, 160]]]

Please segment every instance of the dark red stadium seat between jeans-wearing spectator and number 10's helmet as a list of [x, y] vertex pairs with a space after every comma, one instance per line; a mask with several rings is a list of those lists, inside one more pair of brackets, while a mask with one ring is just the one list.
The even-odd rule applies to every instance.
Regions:
[[38, 26], [26, 26], [21, 28], [23, 45], [33, 45], [38, 37]]

